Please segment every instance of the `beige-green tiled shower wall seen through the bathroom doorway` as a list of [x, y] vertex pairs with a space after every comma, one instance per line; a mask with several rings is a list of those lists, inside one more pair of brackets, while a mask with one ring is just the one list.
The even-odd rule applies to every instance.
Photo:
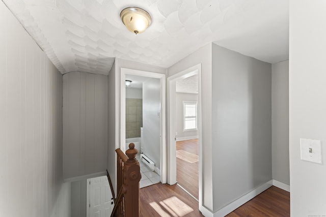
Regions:
[[143, 100], [126, 98], [126, 139], [141, 137]]

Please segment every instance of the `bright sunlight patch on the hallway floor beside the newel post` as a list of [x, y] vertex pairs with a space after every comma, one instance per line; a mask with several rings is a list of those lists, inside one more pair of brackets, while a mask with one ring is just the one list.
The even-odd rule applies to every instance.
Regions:
[[162, 217], [181, 217], [194, 211], [194, 209], [175, 196], [162, 200], [159, 204], [152, 202], [150, 205]]

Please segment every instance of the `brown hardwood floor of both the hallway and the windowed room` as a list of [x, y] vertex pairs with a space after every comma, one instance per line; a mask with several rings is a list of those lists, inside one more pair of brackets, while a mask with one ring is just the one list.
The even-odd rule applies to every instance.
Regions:
[[[177, 150], [198, 155], [198, 139], [177, 142]], [[198, 165], [177, 158], [177, 181], [198, 198]], [[178, 185], [157, 183], [140, 190], [141, 216], [203, 216], [198, 202]], [[257, 197], [243, 204], [228, 217], [287, 217], [290, 216], [290, 193], [270, 187]]]

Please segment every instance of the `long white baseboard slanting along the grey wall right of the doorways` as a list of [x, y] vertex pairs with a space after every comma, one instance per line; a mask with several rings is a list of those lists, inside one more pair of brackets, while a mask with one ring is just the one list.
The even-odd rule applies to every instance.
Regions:
[[270, 188], [272, 185], [273, 185], [273, 180], [270, 180], [270, 181], [260, 185], [258, 188], [256, 188], [253, 191], [247, 193], [246, 195], [243, 195], [239, 199], [233, 201], [232, 203], [226, 205], [225, 207], [223, 207], [219, 211], [215, 212], [214, 217], [223, 217], [223, 216], [229, 214], [230, 212], [232, 212], [233, 210], [235, 210], [239, 206], [242, 206], [244, 203], [247, 203], [248, 201], [250, 201], [251, 199], [253, 199], [257, 195], [262, 193], [263, 191]]

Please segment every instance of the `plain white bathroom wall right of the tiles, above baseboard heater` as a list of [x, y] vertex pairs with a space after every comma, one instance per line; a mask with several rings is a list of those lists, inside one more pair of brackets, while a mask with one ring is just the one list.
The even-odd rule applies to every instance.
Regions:
[[[160, 80], [143, 82], [143, 153], [160, 169]], [[160, 114], [159, 114], [160, 115]]]

